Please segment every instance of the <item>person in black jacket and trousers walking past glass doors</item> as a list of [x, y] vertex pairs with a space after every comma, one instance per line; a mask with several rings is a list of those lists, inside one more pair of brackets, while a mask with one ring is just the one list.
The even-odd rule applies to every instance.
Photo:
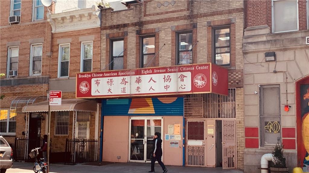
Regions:
[[155, 161], [158, 161], [159, 165], [163, 169], [163, 173], [167, 172], [164, 163], [161, 161], [162, 157], [162, 139], [160, 138], [161, 134], [159, 132], [155, 132], [154, 142], [152, 144], [153, 155], [151, 157], [151, 171], [148, 172], [155, 172]]

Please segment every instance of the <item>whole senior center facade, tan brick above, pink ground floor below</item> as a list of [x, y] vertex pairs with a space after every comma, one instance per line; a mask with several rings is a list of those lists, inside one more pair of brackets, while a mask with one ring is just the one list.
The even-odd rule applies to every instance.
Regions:
[[[184, 56], [184, 54], [177, 55], [180, 51], [177, 50], [177, 46], [180, 46], [179, 35], [187, 33], [192, 34], [192, 41], [189, 43], [189, 50], [191, 51], [192, 49], [192, 54], [190, 53], [190, 63], [203, 64], [207, 62], [213, 62], [217, 64], [223, 64], [222, 67], [228, 69], [228, 87], [230, 88], [230, 93], [226, 98], [229, 100], [235, 100], [232, 104], [235, 105], [236, 110], [234, 115], [231, 117], [232, 120], [235, 121], [236, 126], [236, 153], [233, 157], [234, 159], [237, 159], [237, 161], [234, 162], [235, 164], [233, 166], [239, 169], [243, 169], [244, 150], [243, 54], [241, 44], [244, 28], [243, 7], [243, 1], [145, 1], [142, 3], [130, 4], [130, 8], [127, 10], [113, 11], [111, 8], [102, 9], [100, 49], [101, 71], [112, 69], [137, 69], [146, 66], [175, 67], [179, 64], [186, 64], [178, 58], [181, 55]], [[220, 53], [218, 50], [214, 51], [215, 44], [213, 40], [216, 29], [227, 29], [227, 31], [223, 33], [225, 37], [222, 38], [223, 40], [230, 40], [230, 42], [228, 42], [229, 60], [227, 63], [220, 59], [221, 55], [217, 55], [217, 59], [215, 58], [215, 54]], [[227, 33], [228, 35], [226, 35]], [[153, 52], [156, 54], [153, 60], [154, 62], [144, 59], [145, 55], [143, 51], [145, 51], [145, 47], [142, 45], [144, 38], [154, 39], [154, 41], [151, 43], [152, 46], [147, 47], [146, 44], [147, 48], [154, 48]], [[121, 51], [123, 50], [123, 52], [119, 51], [116, 54], [116, 52], [113, 52], [112, 50], [113, 46], [117, 46], [117, 41], [120, 41], [121, 45], [123, 45], [123, 48], [121, 47]], [[181, 42], [183, 42], [181, 44], [186, 45], [185, 41]], [[118, 66], [115, 65], [115, 62], [113, 61], [113, 58], [117, 58], [116, 56], [118, 55], [121, 57], [121, 68], [118, 68]], [[154, 55], [152, 55], [152, 57], [153, 56]], [[207, 94], [187, 95], [182, 97], [184, 97], [185, 105], [200, 104], [200, 102], [194, 102], [193, 98], [202, 99], [202, 105], [206, 105], [207, 103], [214, 104], [207, 101]], [[143, 99], [143, 97], [141, 99]], [[108, 113], [104, 113], [104, 110], [108, 108], [103, 105], [106, 103], [104, 101], [105, 99], [102, 100], [103, 102], [100, 104], [100, 110], [102, 109], [103, 113], [100, 113], [100, 116], [104, 115], [104, 123], [102, 129], [103, 155], [101, 157], [104, 161], [132, 161], [132, 157], [134, 153], [136, 154], [136, 151], [134, 151], [134, 147], [132, 150], [130, 147], [127, 149], [127, 145], [130, 146], [130, 142], [128, 143], [127, 137], [129, 137], [129, 134], [127, 134], [128, 132], [125, 129], [127, 129], [126, 127], [129, 128], [129, 122], [130, 124], [133, 123], [133, 120], [129, 119], [136, 119], [137, 117], [105, 116], [108, 115]], [[131, 100], [131, 98], [129, 98], [129, 100]], [[206, 108], [204, 113], [205, 112], [207, 112]], [[188, 112], [185, 109], [184, 116], [187, 114]], [[195, 119], [197, 121], [206, 122], [210, 120], [206, 118], [207, 115], [198, 114], [197, 116], [200, 117]], [[224, 120], [222, 117], [217, 118], [218, 119], [215, 118], [212, 120]], [[111, 125], [110, 122], [114, 122], [116, 119], [118, 122]], [[99, 123], [101, 123], [101, 120], [102, 119], [100, 117]], [[184, 123], [188, 123], [190, 120], [191, 119], [188, 116], [185, 118]], [[163, 121], [164, 127], [162, 128], [164, 133], [167, 133], [167, 128], [165, 126], [167, 126], [168, 122], [171, 123], [172, 121], [169, 120], [168, 116], [163, 116]], [[177, 124], [179, 122], [182, 122], [182, 120], [175, 119], [174, 123]], [[114, 129], [119, 126], [121, 126], [120, 129]], [[123, 131], [121, 130], [122, 128], [124, 128]], [[183, 128], [182, 125], [181, 128]], [[187, 130], [187, 127], [185, 128]], [[217, 128], [219, 129], [220, 126]], [[111, 138], [116, 134], [122, 134], [123, 136], [121, 135], [120, 139]], [[184, 137], [187, 139], [187, 136]], [[165, 141], [164, 143], [168, 143], [168, 141]], [[164, 144], [164, 146], [167, 147], [167, 150], [165, 151], [167, 153], [163, 155], [163, 160], [165, 159], [166, 164], [188, 166], [193, 165], [192, 163], [189, 163], [190, 161], [188, 161], [188, 158], [182, 158], [182, 156], [184, 156], [182, 154], [179, 154], [179, 157], [177, 156], [176, 160], [175, 158], [170, 158], [171, 153], [168, 154], [169, 152], [174, 151], [175, 154], [178, 155], [177, 152], [181, 151], [183, 147], [180, 147], [176, 150], [170, 149], [168, 144]], [[184, 146], [184, 152], [186, 152], [185, 155], [187, 155], [187, 142], [184, 144]], [[118, 150], [116, 148], [122, 149]], [[220, 148], [220, 145], [218, 145], [218, 148]], [[117, 158], [117, 156], [119, 157]], [[204, 156], [205, 163], [203, 160], [199, 160], [202, 162], [201, 164], [199, 163], [200, 166], [220, 167], [220, 161], [213, 164], [210, 163], [210, 161], [207, 163], [206, 159], [208, 158], [210, 160], [210, 158], [207, 156], [206, 152]], [[222, 164], [224, 163], [221, 162], [221, 166]]]

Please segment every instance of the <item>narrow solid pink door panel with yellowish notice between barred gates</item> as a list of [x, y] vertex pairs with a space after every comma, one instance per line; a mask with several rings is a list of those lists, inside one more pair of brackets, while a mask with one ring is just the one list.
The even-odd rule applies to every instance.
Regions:
[[216, 165], [216, 135], [215, 135], [215, 120], [207, 120], [207, 131], [206, 131], [206, 152], [207, 153], [207, 167], [215, 167]]

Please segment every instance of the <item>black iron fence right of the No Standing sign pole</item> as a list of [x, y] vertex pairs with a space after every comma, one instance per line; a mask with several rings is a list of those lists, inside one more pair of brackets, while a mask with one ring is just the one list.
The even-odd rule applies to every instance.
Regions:
[[65, 164], [96, 162], [98, 140], [66, 139]]

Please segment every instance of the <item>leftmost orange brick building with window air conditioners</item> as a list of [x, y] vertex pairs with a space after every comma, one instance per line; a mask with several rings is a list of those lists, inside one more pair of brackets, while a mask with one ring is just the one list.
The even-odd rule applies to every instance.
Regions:
[[[2, 126], [1, 135], [6, 135], [6, 140], [14, 148], [15, 137], [24, 136], [25, 114], [18, 109], [16, 111], [20, 113], [11, 113], [9, 116], [11, 118], [6, 118], [11, 106], [15, 107], [19, 99], [18, 106], [31, 98], [45, 96], [46, 99], [49, 88], [48, 56], [51, 51], [51, 27], [46, 18], [47, 9], [37, 12], [41, 7], [34, 7], [36, 1], [22, 1], [15, 6], [12, 3], [11, 1], [1, 2], [0, 71], [6, 76], [1, 78], [1, 95], [4, 95], [4, 98], [0, 101], [0, 126]], [[53, 6], [50, 9], [52, 10]], [[9, 16], [13, 15], [20, 16], [19, 23], [9, 23]], [[35, 31], [34, 28], [36, 28]], [[38, 58], [36, 63], [33, 61], [34, 56]], [[29, 68], [34, 63], [36, 67]], [[10, 70], [16, 71], [16, 75], [11, 72], [12, 76], [9, 76]], [[17, 99], [16, 102], [12, 104], [15, 99]], [[35, 102], [42, 100], [43, 98], [37, 98]]]

